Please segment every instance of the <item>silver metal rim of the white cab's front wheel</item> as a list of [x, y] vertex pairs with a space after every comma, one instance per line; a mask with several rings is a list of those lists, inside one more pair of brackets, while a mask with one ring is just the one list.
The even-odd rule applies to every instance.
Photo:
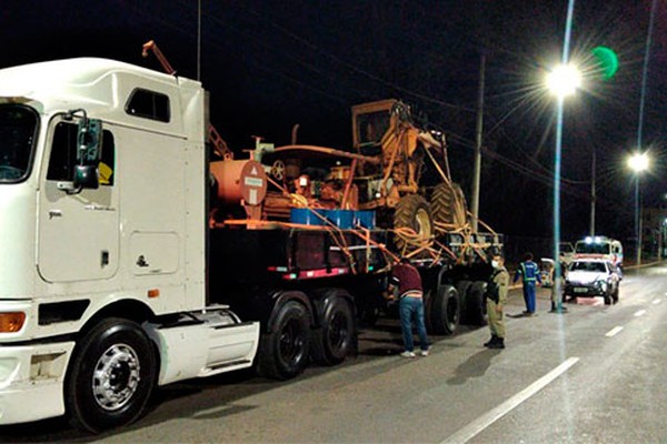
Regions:
[[139, 355], [127, 344], [110, 346], [98, 360], [92, 373], [92, 393], [106, 411], [125, 406], [137, 393], [141, 365]]

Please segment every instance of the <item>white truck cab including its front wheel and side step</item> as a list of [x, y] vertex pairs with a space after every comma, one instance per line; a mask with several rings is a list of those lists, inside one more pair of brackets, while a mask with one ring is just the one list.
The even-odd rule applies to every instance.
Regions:
[[0, 424], [133, 421], [153, 386], [248, 367], [207, 294], [205, 91], [102, 59], [0, 70]]

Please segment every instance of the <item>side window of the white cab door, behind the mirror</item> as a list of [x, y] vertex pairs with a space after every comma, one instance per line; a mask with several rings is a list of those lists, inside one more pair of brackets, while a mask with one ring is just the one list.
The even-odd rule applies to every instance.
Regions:
[[[77, 130], [78, 127], [74, 123], [60, 122], [56, 125], [47, 180], [72, 181], [73, 167], [77, 164]], [[115, 155], [113, 134], [103, 130], [102, 159], [99, 165], [100, 185], [113, 185]]]

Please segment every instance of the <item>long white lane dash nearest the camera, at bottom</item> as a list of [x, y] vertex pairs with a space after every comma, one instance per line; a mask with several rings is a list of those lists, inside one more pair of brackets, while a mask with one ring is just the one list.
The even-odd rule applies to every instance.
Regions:
[[462, 444], [472, 440], [479, 433], [481, 433], [489, 425], [494, 424], [496, 421], [500, 420], [507, 413], [511, 412], [515, 407], [521, 404], [524, 401], [528, 400], [530, 396], [535, 395], [537, 392], [546, 387], [549, 383], [556, 380], [558, 376], [568, 371], [569, 367], [575, 365], [579, 361], [578, 357], [569, 357], [563, 364], [558, 365], [556, 369], [551, 370], [549, 373], [535, 381], [532, 384], [528, 385], [526, 389], [505, 401], [502, 404], [498, 405], [496, 408], [492, 408], [479, 416], [477, 420], [472, 421], [470, 424], [460, 428], [458, 432], [454, 433], [440, 444]]

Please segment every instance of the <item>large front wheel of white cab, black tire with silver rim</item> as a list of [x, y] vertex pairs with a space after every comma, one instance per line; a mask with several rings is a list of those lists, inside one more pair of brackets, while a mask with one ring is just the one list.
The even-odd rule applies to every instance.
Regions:
[[153, 346], [140, 325], [107, 319], [77, 346], [64, 385], [70, 423], [99, 433], [136, 421], [157, 379]]

